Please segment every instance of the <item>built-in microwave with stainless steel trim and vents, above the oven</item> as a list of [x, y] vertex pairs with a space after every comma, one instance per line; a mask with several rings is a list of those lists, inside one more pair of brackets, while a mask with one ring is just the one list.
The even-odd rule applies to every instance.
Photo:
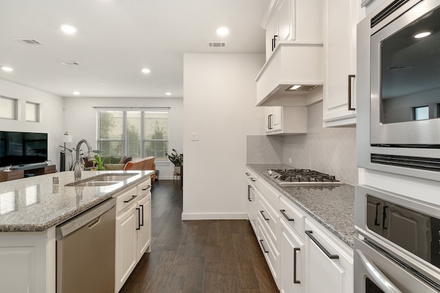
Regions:
[[440, 1], [385, 1], [357, 48], [358, 166], [440, 180]]

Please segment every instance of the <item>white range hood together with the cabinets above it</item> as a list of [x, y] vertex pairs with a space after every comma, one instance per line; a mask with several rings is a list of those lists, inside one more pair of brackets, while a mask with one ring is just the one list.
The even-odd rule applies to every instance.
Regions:
[[289, 88], [322, 86], [321, 2], [270, 3], [261, 24], [266, 30], [266, 63], [256, 77], [257, 106], [306, 106], [309, 91]]

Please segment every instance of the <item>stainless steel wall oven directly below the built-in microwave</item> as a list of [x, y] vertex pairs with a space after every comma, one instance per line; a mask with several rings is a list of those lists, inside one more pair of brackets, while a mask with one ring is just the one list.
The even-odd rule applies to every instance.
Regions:
[[355, 189], [354, 292], [440, 292], [440, 207]]

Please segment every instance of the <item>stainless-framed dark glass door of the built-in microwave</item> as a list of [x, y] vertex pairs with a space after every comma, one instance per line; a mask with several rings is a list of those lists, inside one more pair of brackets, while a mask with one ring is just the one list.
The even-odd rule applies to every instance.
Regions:
[[440, 145], [439, 52], [436, 1], [371, 35], [371, 145]]

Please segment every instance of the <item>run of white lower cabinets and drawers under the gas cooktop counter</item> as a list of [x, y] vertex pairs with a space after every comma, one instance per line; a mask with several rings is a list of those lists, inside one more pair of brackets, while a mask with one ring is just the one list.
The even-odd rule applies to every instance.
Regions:
[[248, 216], [251, 223], [256, 219], [252, 228], [278, 289], [352, 293], [353, 249], [270, 183], [261, 178], [257, 183], [255, 195], [254, 187], [248, 190], [248, 199], [255, 200], [248, 205]]

